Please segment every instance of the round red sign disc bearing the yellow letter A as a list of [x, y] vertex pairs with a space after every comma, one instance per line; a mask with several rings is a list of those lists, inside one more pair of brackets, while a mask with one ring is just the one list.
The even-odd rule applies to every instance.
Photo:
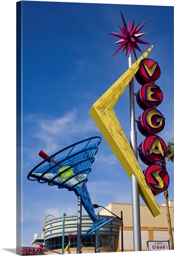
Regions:
[[157, 135], [149, 135], [139, 145], [138, 155], [144, 164], [158, 164], [161, 162], [167, 154], [167, 147]]

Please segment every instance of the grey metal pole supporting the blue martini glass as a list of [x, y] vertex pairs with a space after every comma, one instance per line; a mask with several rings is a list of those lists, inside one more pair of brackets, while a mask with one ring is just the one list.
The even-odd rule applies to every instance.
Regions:
[[78, 196], [78, 214], [77, 214], [77, 253], [81, 253], [81, 232], [82, 232], [82, 200]]

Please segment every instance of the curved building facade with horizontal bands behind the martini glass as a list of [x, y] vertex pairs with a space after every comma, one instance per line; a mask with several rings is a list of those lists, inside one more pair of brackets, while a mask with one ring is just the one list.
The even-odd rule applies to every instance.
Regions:
[[[111, 217], [106, 215], [99, 215], [97, 219], [103, 220]], [[91, 228], [93, 222], [88, 215], [82, 215], [82, 236]], [[103, 252], [115, 252], [115, 240], [119, 235], [121, 220], [115, 218], [108, 222], [104, 227], [92, 233], [90, 236], [84, 237], [81, 240], [82, 251], [89, 253], [95, 250], [95, 239], [97, 241], [96, 247]], [[66, 216], [64, 213], [62, 217], [53, 218], [45, 222], [45, 245], [50, 250], [56, 250], [61, 253], [67, 253], [66, 246], [69, 244], [68, 233], [73, 233], [70, 240], [70, 251], [76, 253], [77, 251], [77, 215]]]

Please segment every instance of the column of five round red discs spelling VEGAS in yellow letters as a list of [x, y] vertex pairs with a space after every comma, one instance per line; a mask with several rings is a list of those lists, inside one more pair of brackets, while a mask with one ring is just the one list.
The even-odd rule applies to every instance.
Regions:
[[144, 110], [138, 118], [137, 127], [146, 137], [139, 145], [138, 155], [144, 164], [149, 165], [143, 173], [154, 196], [159, 195], [169, 186], [169, 175], [165, 168], [158, 164], [167, 154], [165, 142], [157, 136], [165, 125], [164, 116], [156, 109], [163, 99], [160, 87], [154, 84], [160, 75], [158, 63], [151, 59], [141, 60], [135, 74], [136, 80], [142, 85], [136, 100], [138, 106]]

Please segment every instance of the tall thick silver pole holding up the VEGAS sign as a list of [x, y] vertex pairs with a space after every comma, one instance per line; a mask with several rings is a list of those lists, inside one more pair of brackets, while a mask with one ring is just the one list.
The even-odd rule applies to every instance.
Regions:
[[[133, 64], [133, 59], [129, 57], [129, 68]], [[130, 145], [137, 156], [137, 132], [135, 131], [135, 107], [134, 107], [134, 85], [133, 78], [129, 84], [130, 90], [130, 116], [131, 116], [131, 132]], [[138, 181], [133, 174], [131, 174], [132, 184], [132, 216], [133, 216], [133, 245], [134, 251], [141, 251], [141, 224], [140, 224], [140, 208], [139, 208], [139, 187]]]

